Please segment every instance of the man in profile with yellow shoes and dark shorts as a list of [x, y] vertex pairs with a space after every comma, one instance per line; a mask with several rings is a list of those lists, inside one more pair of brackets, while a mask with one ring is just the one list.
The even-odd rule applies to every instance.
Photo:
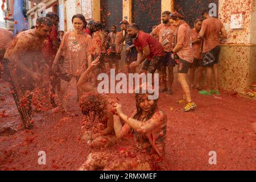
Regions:
[[185, 105], [182, 111], [189, 111], [196, 107], [196, 104], [192, 102], [189, 85], [186, 80], [188, 69], [191, 67], [194, 59], [191, 42], [191, 28], [179, 13], [171, 14], [170, 18], [174, 26], [177, 27], [174, 36], [175, 47], [171, 52], [174, 58], [176, 57], [174, 55], [178, 56], [178, 59], [176, 57], [178, 62], [178, 79], [183, 89], [183, 100], [187, 100], [187, 105]]

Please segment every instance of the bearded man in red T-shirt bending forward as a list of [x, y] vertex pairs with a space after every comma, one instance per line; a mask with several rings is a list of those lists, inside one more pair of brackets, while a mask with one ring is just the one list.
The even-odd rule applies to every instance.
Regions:
[[155, 73], [163, 63], [164, 52], [163, 47], [156, 38], [139, 30], [137, 24], [131, 23], [127, 27], [127, 33], [133, 38], [133, 43], [138, 51], [137, 61], [130, 64], [130, 67], [138, 67], [143, 63], [140, 73]]

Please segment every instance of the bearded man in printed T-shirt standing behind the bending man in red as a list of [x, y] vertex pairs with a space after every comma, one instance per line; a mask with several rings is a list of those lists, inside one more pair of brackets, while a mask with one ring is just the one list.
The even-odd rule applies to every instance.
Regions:
[[[174, 82], [174, 67], [175, 61], [171, 58], [171, 51], [173, 46], [173, 35], [176, 27], [170, 22], [170, 11], [164, 11], [162, 14], [162, 24], [159, 24], [154, 28], [150, 35], [158, 35], [159, 42], [162, 44], [164, 52], [166, 52], [166, 57], [164, 59], [163, 65], [161, 65], [161, 71], [163, 75], [164, 88], [160, 92], [166, 92], [172, 94], [172, 82]], [[168, 68], [168, 89], [167, 89], [167, 69]]]

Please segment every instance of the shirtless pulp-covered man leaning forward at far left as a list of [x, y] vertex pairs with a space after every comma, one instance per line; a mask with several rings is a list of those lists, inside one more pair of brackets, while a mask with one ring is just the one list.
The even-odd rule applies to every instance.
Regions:
[[43, 75], [46, 75], [42, 48], [51, 27], [51, 19], [36, 19], [35, 28], [16, 36], [3, 58], [6, 78], [11, 84], [11, 92], [25, 129], [32, 128], [31, 91], [38, 82], [42, 84]]

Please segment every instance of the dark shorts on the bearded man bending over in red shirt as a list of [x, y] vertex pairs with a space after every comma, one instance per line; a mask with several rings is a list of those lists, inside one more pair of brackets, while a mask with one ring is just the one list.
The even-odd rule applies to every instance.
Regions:
[[163, 60], [164, 56], [155, 56], [151, 60], [145, 60], [142, 69], [148, 71], [148, 73], [155, 73], [156, 69], [160, 69]]

